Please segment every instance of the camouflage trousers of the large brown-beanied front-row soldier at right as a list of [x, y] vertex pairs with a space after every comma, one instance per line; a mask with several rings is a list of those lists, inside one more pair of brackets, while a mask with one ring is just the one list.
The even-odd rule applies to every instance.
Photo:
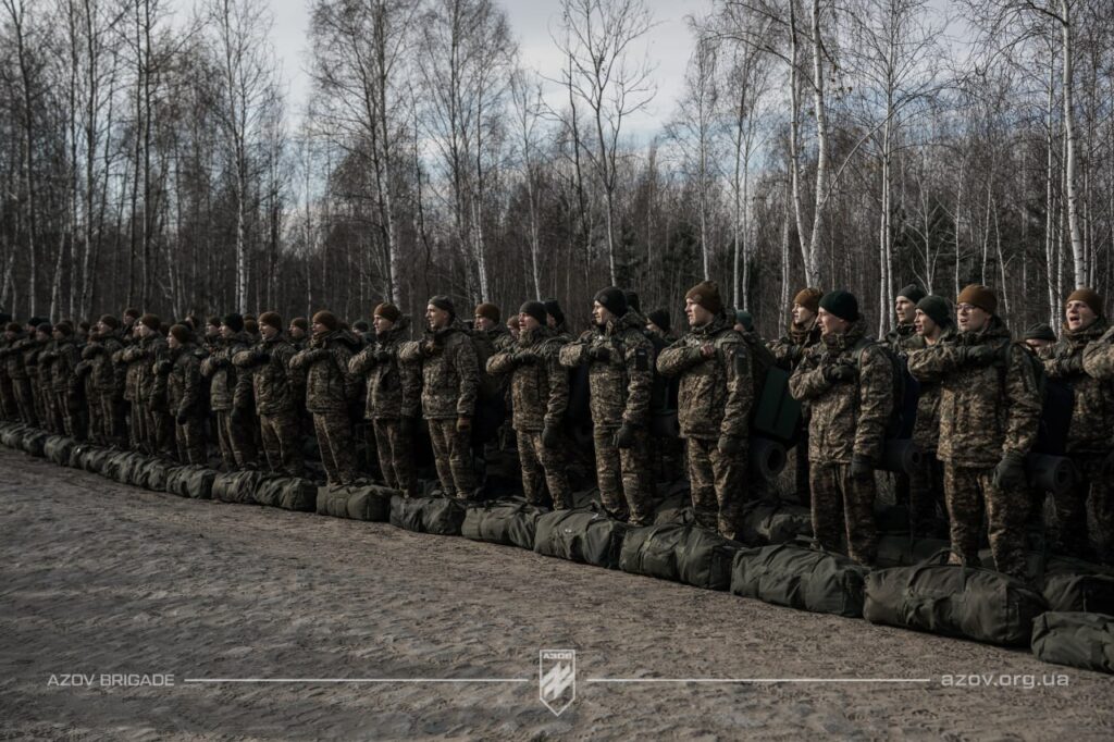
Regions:
[[952, 560], [979, 564], [979, 533], [985, 510], [995, 567], [998, 572], [1024, 579], [1028, 487], [1003, 490], [994, 485], [994, 467], [960, 467], [946, 461], [944, 495], [951, 528]]

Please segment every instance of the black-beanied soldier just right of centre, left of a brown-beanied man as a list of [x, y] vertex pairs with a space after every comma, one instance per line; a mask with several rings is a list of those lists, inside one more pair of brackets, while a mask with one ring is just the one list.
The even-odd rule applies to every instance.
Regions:
[[588, 365], [596, 480], [604, 507], [636, 526], [653, 520], [646, 470], [639, 466], [647, 445], [654, 346], [643, 334], [645, 320], [628, 311], [620, 289], [596, 294], [595, 329], [561, 349], [566, 368]]

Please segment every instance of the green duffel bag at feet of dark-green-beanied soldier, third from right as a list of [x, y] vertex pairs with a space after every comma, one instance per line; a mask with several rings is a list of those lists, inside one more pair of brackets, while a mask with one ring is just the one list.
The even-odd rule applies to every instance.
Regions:
[[858, 618], [869, 572], [842, 554], [776, 544], [735, 555], [731, 592], [772, 605]]

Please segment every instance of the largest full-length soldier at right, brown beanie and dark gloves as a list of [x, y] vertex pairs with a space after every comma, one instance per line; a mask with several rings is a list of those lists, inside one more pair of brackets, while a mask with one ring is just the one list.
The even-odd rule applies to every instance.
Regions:
[[937, 458], [944, 461], [951, 558], [979, 563], [985, 502], [995, 566], [1024, 578], [1030, 499], [1025, 456], [1036, 442], [1040, 390], [1028, 351], [1010, 342], [995, 315], [994, 292], [973, 284], [956, 304], [955, 341], [938, 342], [909, 359], [916, 379], [940, 382]]

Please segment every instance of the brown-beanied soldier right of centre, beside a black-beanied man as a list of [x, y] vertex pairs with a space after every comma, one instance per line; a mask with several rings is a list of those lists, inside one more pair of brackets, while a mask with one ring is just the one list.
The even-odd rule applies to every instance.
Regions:
[[754, 377], [742, 336], [724, 313], [720, 287], [685, 294], [688, 333], [662, 351], [657, 371], [681, 377], [678, 420], [685, 439], [696, 523], [735, 538], [746, 504], [746, 448]]

